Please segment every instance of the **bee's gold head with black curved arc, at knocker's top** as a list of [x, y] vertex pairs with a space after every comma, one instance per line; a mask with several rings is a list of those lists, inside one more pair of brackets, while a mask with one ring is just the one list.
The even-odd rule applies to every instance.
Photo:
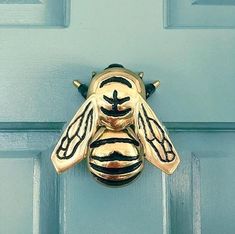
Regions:
[[93, 73], [88, 89], [88, 96], [96, 93], [111, 83], [121, 84], [123, 88], [132, 89], [142, 97], [146, 97], [145, 86], [142, 80], [143, 73], [136, 74], [120, 64], [111, 64], [100, 73]]

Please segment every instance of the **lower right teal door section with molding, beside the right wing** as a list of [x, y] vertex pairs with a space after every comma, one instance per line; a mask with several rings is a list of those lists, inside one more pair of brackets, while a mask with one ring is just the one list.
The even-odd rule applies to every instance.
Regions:
[[182, 163], [173, 176], [163, 176], [167, 233], [234, 233], [235, 134], [231, 130], [173, 134]]

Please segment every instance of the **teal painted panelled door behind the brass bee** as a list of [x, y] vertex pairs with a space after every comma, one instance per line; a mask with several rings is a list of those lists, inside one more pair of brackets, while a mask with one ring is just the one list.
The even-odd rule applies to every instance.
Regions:
[[[235, 6], [231, 0], [0, 0], [0, 233], [233, 234]], [[181, 164], [95, 182], [50, 154], [110, 63], [161, 81], [149, 104]]]

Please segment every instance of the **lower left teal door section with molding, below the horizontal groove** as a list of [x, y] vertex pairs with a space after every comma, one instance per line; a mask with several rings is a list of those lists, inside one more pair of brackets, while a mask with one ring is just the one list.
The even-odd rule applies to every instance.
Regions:
[[0, 132], [0, 233], [59, 232], [57, 175], [48, 157], [58, 132], [29, 128]]

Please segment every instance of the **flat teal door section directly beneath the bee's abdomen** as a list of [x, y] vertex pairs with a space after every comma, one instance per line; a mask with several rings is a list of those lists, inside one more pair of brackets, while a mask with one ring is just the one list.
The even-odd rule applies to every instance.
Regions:
[[135, 182], [121, 188], [97, 183], [86, 162], [61, 176], [64, 233], [162, 233], [161, 173], [146, 163]]

